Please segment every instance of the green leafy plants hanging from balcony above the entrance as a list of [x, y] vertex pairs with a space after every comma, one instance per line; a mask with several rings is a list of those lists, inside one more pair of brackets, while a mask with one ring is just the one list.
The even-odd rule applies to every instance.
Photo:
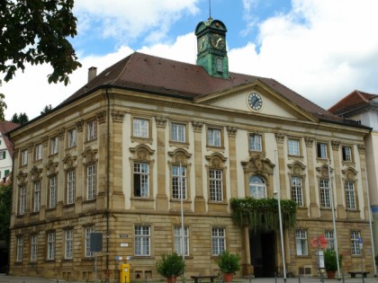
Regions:
[[[279, 225], [277, 199], [231, 199], [232, 219], [239, 226], [249, 226], [254, 230], [276, 230]], [[294, 227], [297, 204], [291, 199], [281, 200], [283, 225]]]

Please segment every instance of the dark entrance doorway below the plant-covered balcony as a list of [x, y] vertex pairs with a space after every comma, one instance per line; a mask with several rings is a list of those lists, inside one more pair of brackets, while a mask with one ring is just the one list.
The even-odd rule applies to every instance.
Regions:
[[255, 277], [275, 277], [275, 232], [249, 230], [249, 247]]

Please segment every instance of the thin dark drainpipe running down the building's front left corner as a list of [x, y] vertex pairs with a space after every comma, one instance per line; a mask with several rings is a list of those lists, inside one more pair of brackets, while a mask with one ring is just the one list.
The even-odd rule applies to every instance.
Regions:
[[106, 119], [106, 283], [109, 283], [109, 204], [110, 204], [110, 97], [106, 87], [107, 119]]

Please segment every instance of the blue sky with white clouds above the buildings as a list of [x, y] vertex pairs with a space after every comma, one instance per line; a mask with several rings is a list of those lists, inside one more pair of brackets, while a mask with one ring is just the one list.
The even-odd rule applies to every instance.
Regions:
[[[378, 1], [211, 0], [211, 17], [228, 28], [232, 72], [275, 78], [328, 109], [355, 89], [378, 94]], [[49, 66], [28, 66], [3, 83], [8, 109], [32, 119], [133, 51], [195, 64], [198, 22], [209, 0], [76, 0], [77, 36], [71, 40], [83, 67], [71, 84], [48, 84]]]

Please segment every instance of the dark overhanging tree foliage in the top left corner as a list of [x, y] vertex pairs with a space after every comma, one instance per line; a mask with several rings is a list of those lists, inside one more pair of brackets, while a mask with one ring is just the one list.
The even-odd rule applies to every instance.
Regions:
[[67, 37], [76, 36], [74, 0], [0, 0], [0, 72], [4, 81], [25, 64], [49, 63], [49, 83], [68, 84], [81, 66]]

